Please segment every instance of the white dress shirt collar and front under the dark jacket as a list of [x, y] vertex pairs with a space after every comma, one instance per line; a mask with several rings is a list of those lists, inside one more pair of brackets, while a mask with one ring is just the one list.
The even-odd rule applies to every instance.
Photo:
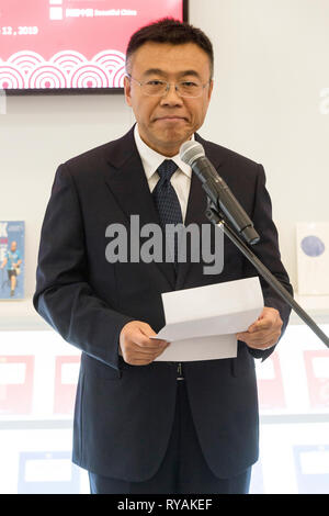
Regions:
[[[162, 156], [161, 154], [157, 153], [156, 150], [150, 148], [148, 145], [146, 145], [146, 143], [139, 136], [138, 124], [135, 125], [134, 136], [135, 136], [137, 150], [141, 158], [146, 179], [147, 179], [149, 189], [152, 192], [154, 188], [156, 187], [159, 180], [159, 175], [157, 172], [157, 169], [161, 165], [163, 159], [169, 159], [169, 158], [168, 156]], [[192, 135], [192, 139], [194, 139], [194, 134]], [[172, 159], [172, 161], [174, 161], [175, 165], [178, 166], [178, 169], [171, 177], [171, 184], [174, 188], [174, 191], [179, 199], [181, 210], [182, 210], [182, 217], [184, 222], [185, 215], [186, 215], [186, 209], [188, 209], [189, 194], [190, 194], [192, 169], [189, 165], [184, 164], [181, 160], [179, 154], [177, 154], [170, 159]]]

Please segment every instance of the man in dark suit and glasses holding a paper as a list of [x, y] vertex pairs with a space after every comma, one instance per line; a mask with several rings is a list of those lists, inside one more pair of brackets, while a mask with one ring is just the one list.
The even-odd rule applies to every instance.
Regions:
[[106, 228], [121, 224], [129, 236], [131, 215], [140, 227], [209, 224], [202, 186], [179, 157], [181, 144], [195, 138], [252, 218], [261, 237], [254, 251], [292, 292], [262, 166], [196, 133], [212, 90], [213, 49], [202, 31], [172, 20], [141, 29], [131, 38], [125, 78], [137, 124], [56, 173], [34, 305], [82, 351], [73, 461], [89, 471], [92, 493], [247, 493], [258, 459], [254, 357], [273, 351], [288, 306], [261, 280], [265, 307], [238, 335], [237, 358], [155, 361], [168, 346], [150, 338], [164, 325], [161, 293], [257, 272], [226, 239], [219, 274], [204, 274], [202, 260], [115, 261], [106, 254]]

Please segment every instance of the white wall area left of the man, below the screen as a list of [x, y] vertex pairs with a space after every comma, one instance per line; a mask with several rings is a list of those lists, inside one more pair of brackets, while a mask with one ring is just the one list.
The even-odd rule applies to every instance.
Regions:
[[25, 221], [27, 298], [57, 166], [117, 138], [132, 122], [123, 96], [8, 97], [7, 115], [0, 115], [0, 220]]

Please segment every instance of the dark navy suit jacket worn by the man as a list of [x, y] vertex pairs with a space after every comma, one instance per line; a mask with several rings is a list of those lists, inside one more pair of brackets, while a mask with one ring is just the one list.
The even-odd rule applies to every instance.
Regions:
[[[281, 263], [277, 234], [264, 171], [231, 150], [202, 139], [209, 160], [254, 223], [261, 242], [253, 250], [273, 274], [292, 288]], [[192, 176], [185, 225], [208, 223], [206, 197]], [[118, 356], [123, 326], [166, 323], [161, 293], [257, 276], [225, 239], [224, 270], [203, 274], [203, 263], [110, 263], [105, 258], [111, 223], [139, 214], [140, 226], [159, 223], [133, 130], [124, 137], [60, 165], [41, 236], [37, 312], [81, 351], [77, 390], [73, 462], [95, 473], [144, 481], [164, 456], [173, 422], [177, 367], [169, 362], [129, 366]], [[214, 231], [214, 226], [212, 226]], [[217, 229], [218, 231], [218, 229]], [[290, 309], [263, 281], [264, 304], [287, 324]], [[225, 303], [225, 300], [218, 300]], [[242, 472], [258, 458], [258, 401], [253, 357], [239, 343], [235, 359], [185, 362], [191, 410], [204, 457], [219, 478]]]

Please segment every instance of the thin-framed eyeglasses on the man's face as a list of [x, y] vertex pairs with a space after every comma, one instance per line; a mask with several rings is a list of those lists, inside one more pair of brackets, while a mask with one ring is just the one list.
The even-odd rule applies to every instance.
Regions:
[[167, 80], [159, 79], [151, 79], [145, 82], [140, 82], [139, 80], [134, 79], [131, 74], [127, 74], [127, 77], [131, 80], [137, 82], [140, 86], [143, 93], [149, 97], [164, 97], [170, 90], [170, 86], [173, 85], [177, 93], [180, 97], [195, 99], [197, 97], [201, 97], [204, 88], [211, 83], [211, 80], [205, 85], [202, 85], [197, 80], [182, 80], [180, 82], [168, 82]]

